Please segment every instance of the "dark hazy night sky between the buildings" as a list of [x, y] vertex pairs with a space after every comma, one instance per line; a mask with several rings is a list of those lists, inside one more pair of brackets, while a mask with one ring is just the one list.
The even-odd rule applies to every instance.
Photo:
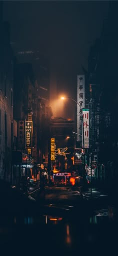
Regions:
[[57, 92], [76, 95], [90, 46], [100, 36], [108, 1], [3, 1], [14, 53], [39, 51], [50, 62]]

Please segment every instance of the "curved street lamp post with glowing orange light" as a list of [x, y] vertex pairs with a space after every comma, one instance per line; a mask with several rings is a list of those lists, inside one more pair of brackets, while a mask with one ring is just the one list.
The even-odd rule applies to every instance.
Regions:
[[[76, 100], [74, 100], [74, 99], [72, 99], [72, 98], [70, 98], [70, 97], [67, 97], [67, 98], [64, 98], [64, 97], [61, 97], [61, 100], [64, 100], [64, 99], [70, 99], [70, 100], [72, 100], [72, 101], [74, 101], [78, 106], [79, 106], [79, 108], [80, 108], [80, 110], [81, 110], [81, 114], [82, 114], [82, 108], [81, 108], [81, 106], [80, 106], [80, 104], [76, 101]], [[83, 139], [83, 165], [84, 165], [84, 175], [85, 175], [85, 147], [84, 147], [84, 123], [83, 123], [83, 115], [81, 116], [82, 117], [82, 139]], [[77, 133], [76, 133], [77, 134]], [[79, 134], [80, 135], [80, 134]]]

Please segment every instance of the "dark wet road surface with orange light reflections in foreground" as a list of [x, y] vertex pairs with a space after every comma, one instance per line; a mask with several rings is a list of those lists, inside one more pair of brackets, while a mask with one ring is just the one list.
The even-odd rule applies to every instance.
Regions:
[[4, 254], [7, 248], [25, 255], [116, 254], [117, 208], [107, 195], [95, 189], [91, 196], [90, 190], [46, 187], [40, 204], [37, 191], [29, 192], [31, 204], [17, 202], [20, 212], [7, 211], [0, 217]]

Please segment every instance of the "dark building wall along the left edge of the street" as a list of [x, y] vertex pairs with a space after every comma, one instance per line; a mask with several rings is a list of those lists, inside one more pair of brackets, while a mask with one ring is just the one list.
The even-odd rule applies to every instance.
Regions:
[[13, 143], [13, 61], [9, 24], [2, 21], [0, 1], [0, 179], [11, 180]]

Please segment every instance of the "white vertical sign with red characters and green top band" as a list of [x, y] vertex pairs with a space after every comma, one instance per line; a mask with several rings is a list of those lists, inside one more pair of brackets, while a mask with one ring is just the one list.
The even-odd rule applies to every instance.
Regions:
[[[84, 148], [89, 148], [89, 109], [82, 109], [83, 130], [84, 130]], [[83, 145], [83, 141], [82, 141]]]

